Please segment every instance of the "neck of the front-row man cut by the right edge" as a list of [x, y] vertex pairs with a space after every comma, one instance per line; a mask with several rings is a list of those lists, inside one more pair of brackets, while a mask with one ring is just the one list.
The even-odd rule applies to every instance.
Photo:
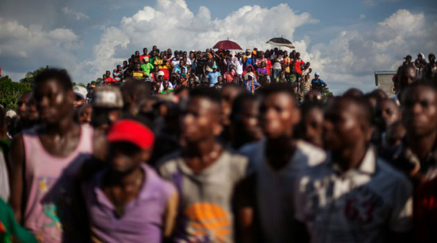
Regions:
[[419, 157], [420, 160], [427, 158], [434, 144], [437, 142], [437, 131], [433, 131], [424, 136], [414, 136], [406, 134], [406, 142], [413, 153]]

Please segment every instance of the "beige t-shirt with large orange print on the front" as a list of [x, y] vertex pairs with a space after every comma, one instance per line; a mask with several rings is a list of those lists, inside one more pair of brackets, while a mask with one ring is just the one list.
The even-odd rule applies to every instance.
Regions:
[[247, 163], [246, 157], [229, 151], [198, 173], [185, 164], [180, 153], [160, 162], [158, 171], [180, 194], [174, 242], [234, 242], [231, 200]]

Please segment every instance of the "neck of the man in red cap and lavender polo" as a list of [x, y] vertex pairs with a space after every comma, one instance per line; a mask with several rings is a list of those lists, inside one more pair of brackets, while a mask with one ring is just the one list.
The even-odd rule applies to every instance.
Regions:
[[144, 181], [144, 171], [140, 166], [123, 174], [110, 171], [108, 179], [108, 185], [118, 186], [124, 190], [129, 190], [138, 187], [138, 184]]

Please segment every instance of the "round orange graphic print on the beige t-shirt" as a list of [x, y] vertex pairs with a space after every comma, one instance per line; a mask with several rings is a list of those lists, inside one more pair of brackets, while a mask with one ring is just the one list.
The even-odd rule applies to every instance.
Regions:
[[228, 242], [230, 227], [228, 213], [213, 203], [193, 203], [183, 212], [187, 217], [189, 242]]

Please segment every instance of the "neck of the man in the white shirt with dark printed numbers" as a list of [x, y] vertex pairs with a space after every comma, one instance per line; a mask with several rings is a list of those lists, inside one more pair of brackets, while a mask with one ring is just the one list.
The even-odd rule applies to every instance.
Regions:
[[332, 160], [339, 165], [342, 171], [355, 169], [361, 165], [367, 149], [366, 144], [357, 143], [355, 146], [341, 151], [332, 151]]

